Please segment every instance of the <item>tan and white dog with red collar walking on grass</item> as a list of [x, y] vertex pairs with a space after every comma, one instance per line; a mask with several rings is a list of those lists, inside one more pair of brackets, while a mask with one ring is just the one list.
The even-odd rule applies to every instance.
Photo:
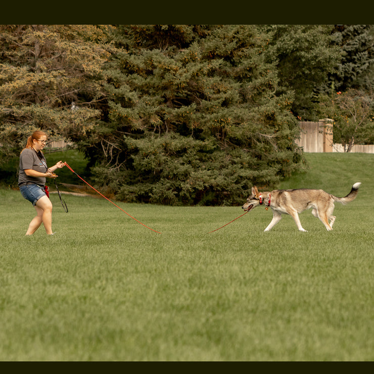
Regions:
[[[296, 222], [300, 231], [306, 230], [300, 223], [299, 214], [306, 209], [312, 208], [314, 217], [318, 217], [328, 231], [333, 229], [335, 216], [333, 216], [334, 203], [338, 201], [347, 204], [354, 200], [358, 194], [360, 182], [354, 183], [351, 192], [344, 198], [338, 198], [328, 194], [323, 190], [274, 190], [271, 192], [258, 192], [257, 187], [252, 187], [252, 196], [249, 196], [247, 202], [242, 208], [249, 212], [259, 205], [264, 205], [265, 209], [271, 208], [273, 219], [265, 228], [265, 231], [271, 230], [282, 218], [282, 214], [289, 214]], [[330, 223], [329, 223], [330, 219]]]

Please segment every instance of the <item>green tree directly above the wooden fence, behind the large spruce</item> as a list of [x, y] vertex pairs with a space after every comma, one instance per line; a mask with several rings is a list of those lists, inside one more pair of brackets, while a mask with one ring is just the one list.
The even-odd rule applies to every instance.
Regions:
[[[276, 92], [294, 91], [291, 109], [299, 120], [318, 120], [314, 115], [317, 95], [329, 85], [341, 58], [332, 44], [334, 25], [264, 25], [269, 45], [266, 61], [276, 64]], [[323, 117], [324, 118], [324, 117]]]

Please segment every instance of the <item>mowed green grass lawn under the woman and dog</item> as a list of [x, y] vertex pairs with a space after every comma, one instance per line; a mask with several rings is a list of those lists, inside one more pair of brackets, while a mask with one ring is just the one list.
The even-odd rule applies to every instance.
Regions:
[[306, 158], [280, 188], [362, 182], [331, 232], [310, 210], [308, 232], [291, 217], [263, 232], [256, 208], [208, 233], [242, 209], [118, 203], [159, 234], [105, 199], [64, 195], [65, 213], [54, 194], [56, 235], [25, 237], [31, 204], [0, 190], [0, 360], [372, 361], [374, 155]]

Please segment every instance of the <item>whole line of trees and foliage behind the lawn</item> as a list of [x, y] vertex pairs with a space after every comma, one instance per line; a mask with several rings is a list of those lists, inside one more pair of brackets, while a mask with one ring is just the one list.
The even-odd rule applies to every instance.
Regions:
[[240, 203], [303, 168], [299, 120], [334, 118], [336, 142], [371, 141], [372, 31], [0, 25], [0, 156], [42, 129], [117, 199]]

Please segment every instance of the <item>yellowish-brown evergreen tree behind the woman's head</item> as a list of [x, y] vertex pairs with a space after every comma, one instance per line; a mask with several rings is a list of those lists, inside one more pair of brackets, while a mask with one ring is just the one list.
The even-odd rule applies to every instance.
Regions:
[[95, 126], [107, 29], [0, 25], [0, 154], [18, 156], [36, 129], [74, 137]]

